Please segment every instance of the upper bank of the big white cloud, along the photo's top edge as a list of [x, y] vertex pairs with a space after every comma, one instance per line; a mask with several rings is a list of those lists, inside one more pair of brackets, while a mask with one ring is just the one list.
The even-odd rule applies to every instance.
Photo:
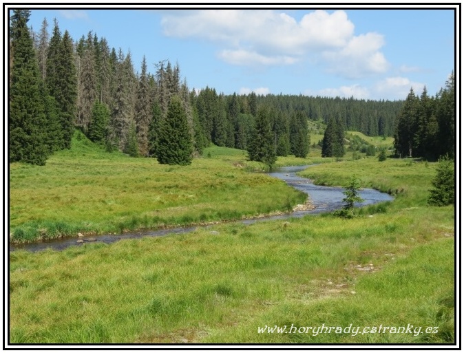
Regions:
[[354, 25], [346, 12], [317, 10], [298, 23], [273, 10], [198, 10], [162, 18], [165, 35], [218, 41], [234, 48], [273, 54], [302, 54], [309, 47], [340, 47], [352, 36]]

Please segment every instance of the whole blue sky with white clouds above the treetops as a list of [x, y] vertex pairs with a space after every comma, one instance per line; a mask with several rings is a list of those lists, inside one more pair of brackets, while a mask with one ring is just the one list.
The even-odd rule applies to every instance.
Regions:
[[81, 7], [32, 10], [28, 24], [39, 32], [46, 18], [51, 33], [56, 19], [74, 40], [92, 31], [136, 71], [144, 55], [151, 73], [178, 63], [189, 89], [403, 100], [411, 87], [436, 94], [456, 61], [454, 8], [408, 7]]

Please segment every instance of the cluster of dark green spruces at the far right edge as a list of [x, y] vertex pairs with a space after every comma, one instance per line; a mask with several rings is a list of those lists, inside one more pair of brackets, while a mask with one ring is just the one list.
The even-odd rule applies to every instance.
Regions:
[[436, 96], [428, 96], [424, 87], [421, 96], [411, 88], [396, 120], [394, 149], [397, 156], [438, 160], [454, 158], [456, 148], [456, 111], [454, 72]]

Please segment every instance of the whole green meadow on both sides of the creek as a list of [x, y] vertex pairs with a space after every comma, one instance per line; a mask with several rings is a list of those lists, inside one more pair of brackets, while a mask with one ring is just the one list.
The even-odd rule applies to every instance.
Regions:
[[[45, 167], [10, 164], [10, 231], [19, 241], [28, 232], [212, 222], [304, 200], [251, 172], [260, 168], [233, 149], [211, 147], [189, 167], [169, 167], [81, 138]], [[111, 245], [14, 251], [10, 342], [453, 343], [454, 206], [426, 204], [434, 173], [434, 163], [411, 160], [324, 160], [301, 175], [341, 186], [357, 175], [395, 200], [359, 208], [350, 220], [227, 222]], [[322, 325], [388, 330], [258, 332]], [[391, 329], [408, 325], [421, 333]]]

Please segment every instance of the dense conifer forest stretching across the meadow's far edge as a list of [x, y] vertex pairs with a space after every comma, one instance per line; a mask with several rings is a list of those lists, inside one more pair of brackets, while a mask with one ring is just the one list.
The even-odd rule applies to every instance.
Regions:
[[78, 128], [108, 151], [161, 163], [189, 164], [213, 143], [272, 164], [277, 156], [306, 156], [308, 120], [337, 122], [338, 136], [394, 136], [400, 156], [437, 158], [454, 149], [454, 139], [440, 149], [424, 147], [454, 136], [454, 81], [436, 98], [405, 102], [224, 95], [189, 89], [178, 63], [158, 61], [151, 73], [144, 57], [136, 72], [131, 53], [110, 48], [105, 38], [89, 32], [73, 41], [56, 20], [50, 34], [46, 19], [34, 32], [29, 17], [29, 10], [10, 17], [10, 162], [45, 164], [54, 151], [70, 148]]

